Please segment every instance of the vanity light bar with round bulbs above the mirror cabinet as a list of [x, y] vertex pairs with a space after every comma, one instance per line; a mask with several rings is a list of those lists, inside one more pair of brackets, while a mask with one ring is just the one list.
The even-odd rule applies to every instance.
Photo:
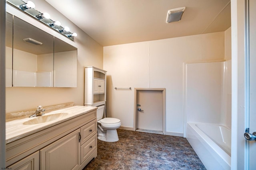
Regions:
[[64, 35], [68, 39], [74, 41], [74, 37], [77, 36], [76, 33], [71, 33], [68, 27], [62, 27], [60, 25], [60, 21], [53, 21], [50, 19], [50, 15], [48, 13], [41, 13], [35, 10], [35, 4], [32, 1], [25, 2], [24, 0], [6, 0], [8, 4], [18, 8], [25, 14], [28, 14], [32, 18], [44, 23], [48, 27], [54, 29], [58, 33]]

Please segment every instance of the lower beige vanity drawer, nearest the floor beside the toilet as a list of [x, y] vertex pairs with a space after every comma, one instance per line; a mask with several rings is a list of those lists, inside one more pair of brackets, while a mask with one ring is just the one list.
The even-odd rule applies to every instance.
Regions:
[[97, 149], [97, 134], [81, 146], [81, 164]]

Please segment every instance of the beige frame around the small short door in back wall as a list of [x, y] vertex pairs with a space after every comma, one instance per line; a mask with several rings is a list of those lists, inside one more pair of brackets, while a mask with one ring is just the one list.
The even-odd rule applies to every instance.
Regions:
[[161, 91], [162, 92], [162, 129], [166, 135], [166, 88], [134, 88], [134, 125], [133, 130], [137, 129], [137, 98], [138, 91]]

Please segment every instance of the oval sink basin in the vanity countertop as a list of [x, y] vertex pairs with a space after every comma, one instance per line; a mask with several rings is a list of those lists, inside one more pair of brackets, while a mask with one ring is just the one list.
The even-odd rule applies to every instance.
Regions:
[[25, 121], [23, 123], [23, 125], [34, 125], [34, 124], [38, 124], [38, 123], [45, 123], [45, 122], [48, 122], [48, 121], [54, 121], [56, 119], [60, 119], [62, 117], [65, 117], [66, 115], [68, 115], [68, 113], [54, 113], [54, 114], [50, 114], [50, 115], [37, 116], [34, 119]]

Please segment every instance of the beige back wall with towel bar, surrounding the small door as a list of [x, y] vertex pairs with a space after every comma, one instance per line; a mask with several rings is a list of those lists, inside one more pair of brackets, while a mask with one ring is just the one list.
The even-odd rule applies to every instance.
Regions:
[[104, 47], [107, 115], [120, 119], [124, 127], [133, 127], [134, 88], [166, 88], [166, 134], [182, 135], [184, 63], [224, 60], [224, 35], [217, 32]]

